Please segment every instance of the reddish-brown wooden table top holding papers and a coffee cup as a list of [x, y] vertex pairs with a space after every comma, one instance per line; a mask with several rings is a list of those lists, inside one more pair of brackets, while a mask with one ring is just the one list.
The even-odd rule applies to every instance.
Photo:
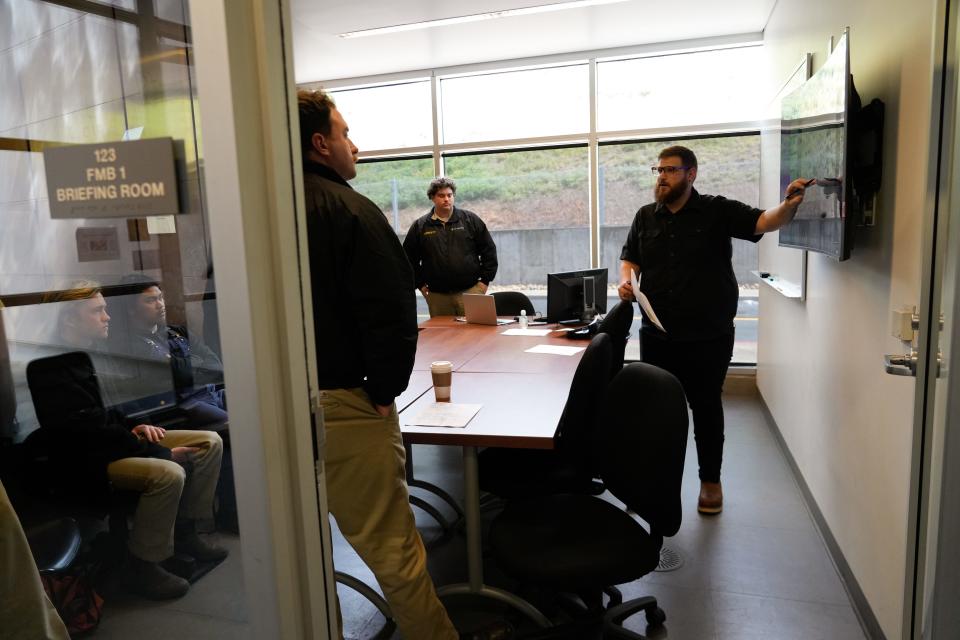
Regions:
[[[501, 334], [518, 325], [464, 324], [453, 318], [432, 318], [421, 327], [414, 375], [407, 391], [397, 399], [405, 441], [553, 448], [557, 423], [583, 351], [572, 356], [525, 351], [538, 344], [585, 348], [586, 341], [568, 340], [557, 331], [542, 337], [505, 336]], [[532, 328], [554, 329], [556, 325]], [[429, 368], [434, 360], [453, 362], [453, 402], [483, 405], [464, 428], [410, 424], [434, 401], [432, 385], [417, 392], [430, 384]]]

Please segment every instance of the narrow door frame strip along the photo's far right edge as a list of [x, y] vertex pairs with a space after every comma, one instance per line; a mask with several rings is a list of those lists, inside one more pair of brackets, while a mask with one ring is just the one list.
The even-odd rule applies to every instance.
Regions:
[[[912, 602], [905, 637], [945, 638], [956, 634], [960, 613], [960, 69], [957, 3], [938, 3], [942, 40], [936, 48], [942, 64], [936, 80], [940, 100], [939, 136], [931, 145], [932, 228], [924, 255], [928, 293], [918, 314], [918, 401], [923, 403], [922, 456], [919, 468], [916, 569], [908, 577]], [[918, 404], [920, 404], [918, 402]]]

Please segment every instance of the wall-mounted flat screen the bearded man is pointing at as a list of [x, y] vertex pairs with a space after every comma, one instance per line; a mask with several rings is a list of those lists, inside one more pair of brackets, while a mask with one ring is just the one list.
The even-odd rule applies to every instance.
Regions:
[[796, 178], [815, 182], [796, 217], [780, 229], [780, 246], [850, 257], [858, 210], [850, 180], [850, 123], [859, 102], [845, 32], [823, 67], [781, 102], [780, 193]]

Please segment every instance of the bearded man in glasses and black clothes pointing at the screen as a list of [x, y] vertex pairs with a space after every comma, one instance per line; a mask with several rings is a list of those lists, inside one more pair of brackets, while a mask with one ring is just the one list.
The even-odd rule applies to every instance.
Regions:
[[693, 188], [697, 157], [681, 146], [660, 152], [654, 202], [641, 207], [620, 252], [623, 300], [633, 300], [631, 272], [663, 331], [644, 317], [642, 358], [677, 376], [693, 412], [700, 498], [697, 510], [723, 510], [723, 404], [720, 394], [733, 356], [733, 318], [739, 289], [731, 238], [756, 242], [793, 219], [803, 201], [804, 179], [787, 187], [776, 207], [762, 211]]

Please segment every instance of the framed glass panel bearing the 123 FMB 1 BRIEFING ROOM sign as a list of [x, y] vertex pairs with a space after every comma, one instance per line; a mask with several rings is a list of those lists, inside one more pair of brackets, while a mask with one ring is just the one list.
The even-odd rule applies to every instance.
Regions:
[[[79, 523], [98, 638], [331, 630], [312, 349], [281, 250], [289, 18], [214, 4], [0, 0], [0, 477], [26, 525]], [[96, 382], [89, 406], [67, 406], [64, 371]], [[151, 507], [144, 460], [186, 478], [176, 508]]]

